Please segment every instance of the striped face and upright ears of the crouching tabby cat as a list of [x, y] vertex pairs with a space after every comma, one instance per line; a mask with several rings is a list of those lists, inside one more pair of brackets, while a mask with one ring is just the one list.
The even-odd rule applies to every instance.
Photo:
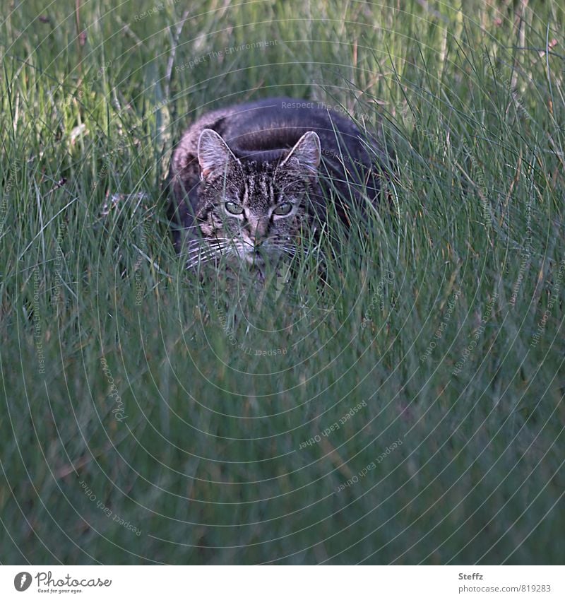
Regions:
[[206, 247], [198, 259], [222, 254], [261, 266], [292, 256], [297, 237], [311, 232], [308, 193], [316, 186], [320, 157], [314, 131], [277, 164], [238, 160], [219, 134], [205, 129], [198, 141], [196, 223]]

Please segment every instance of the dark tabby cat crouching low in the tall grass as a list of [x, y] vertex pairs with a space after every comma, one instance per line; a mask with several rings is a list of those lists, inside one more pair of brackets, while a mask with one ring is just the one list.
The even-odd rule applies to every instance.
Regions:
[[321, 102], [267, 98], [207, 112], [172, 155], [175, 248], [188, 268], [222, 255], [259, 268], [292, 257], [331, 203], [346, 225], [376, 206], [385, 163], [374, 136]]

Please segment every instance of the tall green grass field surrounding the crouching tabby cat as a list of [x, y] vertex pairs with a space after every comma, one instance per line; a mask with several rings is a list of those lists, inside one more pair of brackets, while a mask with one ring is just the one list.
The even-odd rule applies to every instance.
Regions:
[[[0, 562], [564, 563], [563, 4], [8, 4]], [[393, 204], [325, 282], [199, 280], [171, 148], [268, 95]]]

